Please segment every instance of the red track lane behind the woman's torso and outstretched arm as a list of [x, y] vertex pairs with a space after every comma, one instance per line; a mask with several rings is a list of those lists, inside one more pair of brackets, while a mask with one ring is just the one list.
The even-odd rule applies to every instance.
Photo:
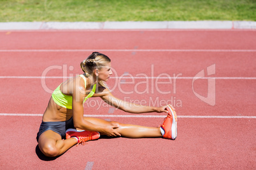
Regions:
[[[0, 113], [43, 114], [51, 94], [46, 92], [40, 79], [1, 79], [0, 85], [2, 107]], [[46, 79], [48, 90], [54, 90], [62, 79]], [[162, 81], [161, 81], [162, 82]], [[126, 82], [127, 83], [127, 82]], [[141, 83], [136, 79], [134, 84]], [[161, 106], [171, 103], [180, 115], [255, 115], [256, 80], [216, 80], [216, 105], [213, 107], [197, 98], [194, 94], [207, 96], [208, 80], [195, 81], [194, 92], [192, 80], [179, 79], [175, 84], [158, 84], [144, 82], [135, 88], [134, 84], [120, 84], [110, 81], [110, 88], [115, 88], [113, 95], [124, 101], [141, 105]], [[10, 89], [10, 87], [13, 87]], [[232, 88], [231, 88], [232, 87]], [[169, 94], [162, 94], [162, 93]], [[175, 93], [174, 93], [175, 92]], [[126, 94], [130, 93], [130, 94]], [[139, 94], [141, 93], [141, 94]], [[31, 94], [31, 95], [28, 95]], [[236, 96], [234, 98], [234, 96]], [[243, 101], [243, 102], [242, 102]], [[33, 103], [33, 104], [32, 104]], [[36, 107], [32, 107], [32, 106]], [[85, 113], [107, 114], [110, 109], [100, 98], [90, 98], [85, 103]], [[113, 114], [124, 114], [115, 110]]]

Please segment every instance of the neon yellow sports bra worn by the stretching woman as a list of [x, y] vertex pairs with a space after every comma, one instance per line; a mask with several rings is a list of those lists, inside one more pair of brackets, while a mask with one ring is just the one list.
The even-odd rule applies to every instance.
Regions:
[[[84, 75], [79, 75], [80, 77], [83, 78], [83, 80], [85, 81], [85, 88], [86, 88], [86, 79]], [[60, 84], [61, 85], [61, 84]], [[60, 91], [60, 85], [53, 91], [52, 93], [52, 99], [53, 101], [55, 101], [55, 103], [57, 103], [57, 105], [64, 107], [64, 108], [68, 108], [68, 109], [72, 109], [72, 96], [68, 96], [68, 95], [64, 95], [61, 91]], [[89, 95], [87, 95], [85, 97], [85, 100], [83, 100], [83, 103], [85, 103], [85, 101], [87, 100], [87, 98], [90, 98], [92, 95], [94, 95], [96, 90], [96, 84], [94, 84], [92, 91], [90, 91]]]

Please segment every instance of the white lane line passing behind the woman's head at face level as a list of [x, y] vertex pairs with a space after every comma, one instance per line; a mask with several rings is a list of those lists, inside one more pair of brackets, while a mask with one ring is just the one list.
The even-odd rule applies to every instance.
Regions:
[[[0, 76], [0, 79], [68, 79], [62, 76]], [[223, 79], [223, 80], [255, 80], [256, 77], [110, 77], [110, 79]]]

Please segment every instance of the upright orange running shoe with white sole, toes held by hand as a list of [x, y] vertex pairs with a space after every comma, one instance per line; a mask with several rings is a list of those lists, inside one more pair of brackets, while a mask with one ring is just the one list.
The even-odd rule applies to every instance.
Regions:
[[164, 138], [175, 140], [177, 137], [177, 115], [173, 106], [169, 105], [166, 110], [169, 112], [164, 118], [164, 123], [160, 128], [164, 129]]

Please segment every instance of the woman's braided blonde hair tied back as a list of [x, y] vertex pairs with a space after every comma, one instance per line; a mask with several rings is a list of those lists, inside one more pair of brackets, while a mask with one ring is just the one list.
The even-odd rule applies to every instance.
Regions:
[[[110, 63], [111, 60], [108, 58], [108, 56], [103, 55], [99, 52], [93, 52], [87, 59], [83, 60], [83, 62], [80, 63], [80, 67], [85, 73], [87, 77], [90, 77], [95, 69], [101, 69], [102, 67], [106, 66], [107, 63]], [[106, 82], [99, 81], [99, 84], [103, 86], [104, 88], [108, 88], [106, 85]]]

